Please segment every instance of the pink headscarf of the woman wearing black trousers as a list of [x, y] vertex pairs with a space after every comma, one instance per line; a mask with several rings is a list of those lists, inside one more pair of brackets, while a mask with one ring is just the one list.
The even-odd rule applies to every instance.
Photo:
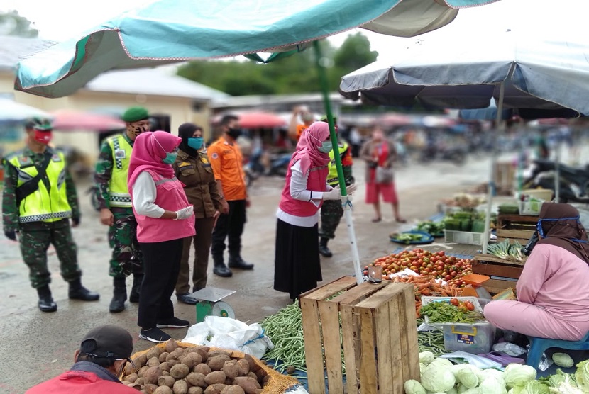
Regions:
[[129, 189], [139, 174], [146, 170], [155, 171], [165, 178], [174, 176], [174, 169], [171, 164], [165, 164], [166, 153], [171, 153], [180, 145], [182, 139], [165, 131], [154, 131], [141, 133], [133, 143], [133, 153], [129, 163], [127, 183]]

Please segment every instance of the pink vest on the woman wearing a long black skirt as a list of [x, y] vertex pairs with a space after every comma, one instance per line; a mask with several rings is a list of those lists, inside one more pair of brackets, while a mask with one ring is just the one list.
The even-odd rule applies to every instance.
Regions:
[[[286, 175], [285, 188], [282, 189], [282, 197], [280, 198], [280, 209], [289, 215], [295, 215], [299, 217], [312, 216], [323, 204], [323, 200], [319, 202], [319, 206], [315, 206], [314, 203], [309, 201], [295, 200], [290, 196], [290, 176], [291, 167], [295, 163], [292, 163], [288, 168]], [[329, 168], [324, 167], [311, 167], [309, 170], [309, 177], [307, 178], [307, 190], [324, 192], [326, 188], [327, 174], [329, 174]]]

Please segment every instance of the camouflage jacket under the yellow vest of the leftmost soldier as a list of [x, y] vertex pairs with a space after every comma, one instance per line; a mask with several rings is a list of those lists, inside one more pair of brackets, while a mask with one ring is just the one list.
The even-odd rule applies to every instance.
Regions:
[[[47, 147], [43, 153], [34, 153], [28, 147], [13, 154], [30, 157], [35, 166], [40, 167], [43, 163], [45, 154], [53, 155], [55, 151]], [[4, 157], [4, 191], [2, 192], [2, 224], [5, 231], [19, 230], [18, 215], [20, 210], [16, 204], [16, 185], [18, 184], [18, 172], [12, 164], [8, 162], [9, 157], [13, 154], [6, 154]], [[65, 171], [65, 193], [67, 194], [67, 203], [72, 208], [72, 218], [80, 217], [79, 203], [76, 193], [76, 187], [70, 171]]]

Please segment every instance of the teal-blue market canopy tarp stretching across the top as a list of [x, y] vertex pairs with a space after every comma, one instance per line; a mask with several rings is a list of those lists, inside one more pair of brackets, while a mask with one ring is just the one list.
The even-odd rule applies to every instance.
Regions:
[[296, 50], [359, 26], [410, 37], [450, 23], [458, 8], [494, 1], [158, 0], [23, 60], [15, 89], [62, 97], [111, 69]]

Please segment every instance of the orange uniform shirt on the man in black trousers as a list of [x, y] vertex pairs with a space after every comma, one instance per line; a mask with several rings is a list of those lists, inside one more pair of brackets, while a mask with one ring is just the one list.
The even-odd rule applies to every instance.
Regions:
[[207, 148], [215, 179], [223, 185], [226, 201], [245, 200], [247, 197], [243, 157], [237, 143], [229, 144], [224, 137]]

